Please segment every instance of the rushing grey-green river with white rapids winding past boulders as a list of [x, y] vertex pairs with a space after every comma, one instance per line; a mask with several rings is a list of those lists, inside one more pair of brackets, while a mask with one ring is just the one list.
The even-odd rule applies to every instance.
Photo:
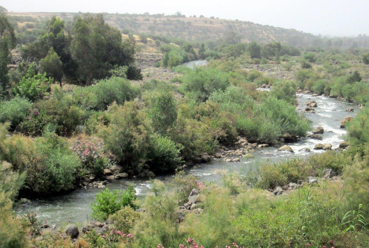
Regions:
[[[305, 109], [305, 102], [314, 99], [318, 107], [315, 113], [305, 113], [306, 117], [313, 121], [313, 127], [322, 126], [324, 133], [321, 135], [323, 140], [302, 138], [296, 143], [288, 144], [295, 153], [277, 151], [278, 147], [268, 147], [256, 149], [252, 153], [255, 158], [241, 158], [239, 163], [225, 162], [223, 159], [212, 160], [207, 164], [201, 164], [197, 168], [191, 168], [187, 172], [199, 177], [200, 181], [219, 182], [221, 175], [219, 171], [238, 172], [245, 174], [250, 168], [254, 168], [258, 162], [271, 161], [278, 162], [292, 157], [305, 157], [314, 153], [322, 153], [323, 150], [313, 150], [315, 144], [332, 144], [332, 149], [339, 146], [346, 133], [345, 129], [340, 129], [340, 121], [346, 116], [354, 116], [359, 109], [353, 104], [338, 99], [325, 96], [312, 97], [311, 94], [297, 94], [299, 108]], [[349, 107], [354, 107], [354, 113], [345, 112]], [[301, 110], [300, 110], [301, 111]], [[299, 150], [308, 147], [311, 152], [300, 152]], [[173, 178], [173, 175], [157, 177], [163, 181]], [[138, 197], [143, 197], [150, 188], [150, 182], [145, 179], [124, 179], [112, 181], [107, 187], [111, 190], [123, 190], [128, 184], [133, 184]], [[83, 222], [91, 214], [90, 203], [93, 202], [96, 193], [103, 189], [87, 188], [77, 189], [63, 196], [49, 197], [46, 199], [32, 200], [18, 207], [17, 213], [37, 213], [39, 220], [48, 220], [51, 225], [59, 224], [71, 220], [72, 222]]]

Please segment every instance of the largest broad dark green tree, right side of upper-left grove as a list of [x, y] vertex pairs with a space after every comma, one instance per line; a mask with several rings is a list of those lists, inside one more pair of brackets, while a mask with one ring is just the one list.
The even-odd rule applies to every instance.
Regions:
[[106, 24], [102, 14], [77, 17], [72, 34], [70, 50], [81, 83], [91, 84], [93, 79], [110, 76], [114, 66], [133, 66], [134, 43], [123, 42], [121, 33]]

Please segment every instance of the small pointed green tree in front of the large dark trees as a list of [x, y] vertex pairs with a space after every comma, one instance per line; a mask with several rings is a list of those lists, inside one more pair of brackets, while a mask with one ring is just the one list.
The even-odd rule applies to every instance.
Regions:
[[59, 82], [62, 87], [63, 63], [54, 48], [50, 48], [48, 55], [40, 60], [41, 72], [46, 73], [46, 77], [52, 77]]

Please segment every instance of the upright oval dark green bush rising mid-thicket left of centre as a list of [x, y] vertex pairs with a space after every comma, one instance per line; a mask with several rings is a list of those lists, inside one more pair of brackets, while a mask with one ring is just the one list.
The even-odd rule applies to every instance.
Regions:
[[177, 119], [176, 101], [170, 92], [165, 91], [154, 98], [153, 105], [148, 116], [151, 118], [154, 130], [164, 135]]

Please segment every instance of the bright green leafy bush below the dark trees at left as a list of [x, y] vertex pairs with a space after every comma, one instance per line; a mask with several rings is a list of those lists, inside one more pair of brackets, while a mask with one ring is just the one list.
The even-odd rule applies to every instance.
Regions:
[[17, 87], [18, 94], [21, 97], [28, 98], [31, 102], [37, 101], [49, 95], [52, 79], [44, 74], [34, 74], [32, 66], [28, 69], [26, 75], [21, 79]]

